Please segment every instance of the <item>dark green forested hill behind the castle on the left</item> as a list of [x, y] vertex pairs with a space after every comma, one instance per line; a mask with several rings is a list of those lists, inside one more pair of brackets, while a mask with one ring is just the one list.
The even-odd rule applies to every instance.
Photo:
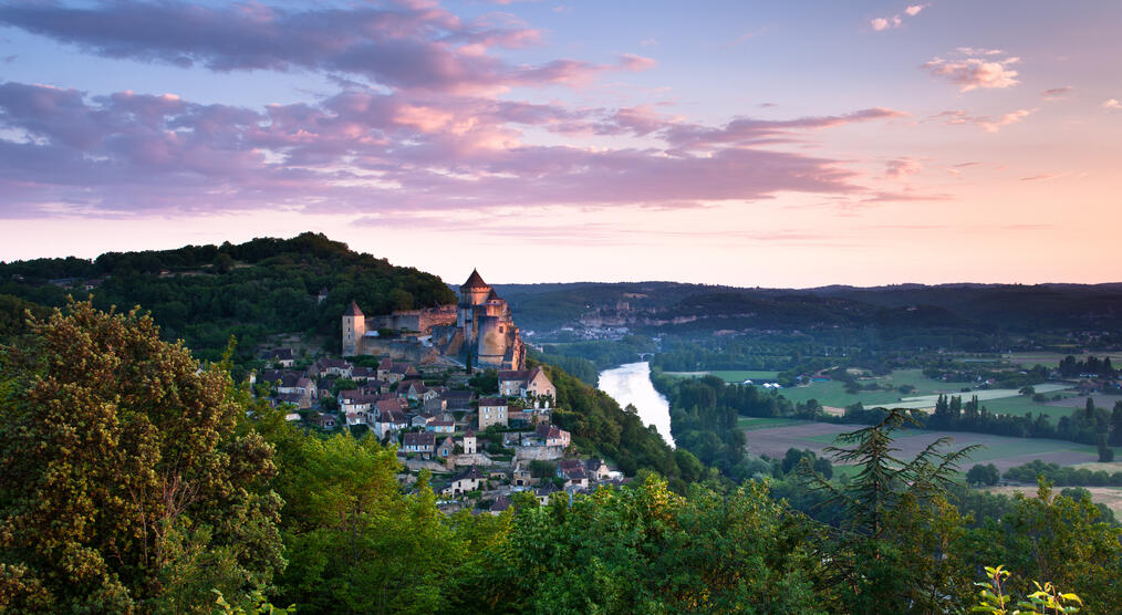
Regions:
[[[327, 291], [323, 301], [321, 290]], [[432, 274], [306, 232], [240, 245], [105, 253], [92, 260], [0, 264], [0, 339], [19, 332], [24, 302], [54, 306], [66, 295], [88, 294], [101, 309], [150, 310], [167, 338], [184, 339], [205, 358], [217, 357], [231, 334], [242, 357], [282, 332], [313, 333], [337, 348], [339, 316], [351, 300], [375, 314], [456, 301]]]

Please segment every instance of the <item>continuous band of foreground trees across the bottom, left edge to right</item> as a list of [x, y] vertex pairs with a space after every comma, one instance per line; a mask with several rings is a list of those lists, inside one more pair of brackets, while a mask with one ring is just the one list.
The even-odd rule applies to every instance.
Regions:
[[[590, 403], [587, 426], [608, 429]], [[902, 421], [847, 434], [870, 469], [847, 483], [792, 453], [785, 476], [800, 468], [834, 524], [766, 481], [680, 495], [654, 475], [444, 515], [393, 448], [305, 432], [151, 319], [76, 304], [0, 350], [0, 609], [210, 613], [218, 590], [236, 612], [944, 613], [976, 605], [996, 562], [1018, 572], [1006, 593], [1049, 580], [1115, 608], [1120, 531], [1089, 499], [1041, 488], [972, 525], [949, 481], [963, 456], [892, 458]]]

